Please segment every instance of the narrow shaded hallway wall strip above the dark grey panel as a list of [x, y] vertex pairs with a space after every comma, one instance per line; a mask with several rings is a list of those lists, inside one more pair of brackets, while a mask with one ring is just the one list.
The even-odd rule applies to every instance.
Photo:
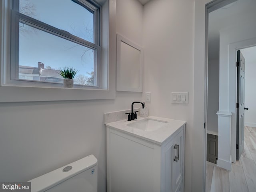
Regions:
[[207, 133], [218, 135], [219, 59], [208, 61]]

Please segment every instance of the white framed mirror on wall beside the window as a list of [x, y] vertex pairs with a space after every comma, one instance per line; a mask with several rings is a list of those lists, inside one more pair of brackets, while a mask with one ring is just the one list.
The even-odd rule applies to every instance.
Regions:
[[143, 50], [116, 34], [116, 90], [142, 92]]

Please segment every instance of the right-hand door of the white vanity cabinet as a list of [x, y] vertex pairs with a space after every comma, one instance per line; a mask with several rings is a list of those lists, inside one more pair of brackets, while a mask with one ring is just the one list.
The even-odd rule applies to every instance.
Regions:
[[182, 186], [183, 130], [174, 138], [172, 157], [172, 192], [176, 192]]

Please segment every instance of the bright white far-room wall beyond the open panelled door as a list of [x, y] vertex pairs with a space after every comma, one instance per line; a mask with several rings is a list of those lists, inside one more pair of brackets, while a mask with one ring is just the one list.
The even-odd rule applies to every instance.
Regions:
[[[241, 50], [243, 54], [243, 50]], [[255, 54], [252, 55], [255, 57]], [[246, 62], [245, 58], [245, 98], [244, 104], [245, 108], [248, 107], [249, 110], [244, 111], [244, 124], [246, 126], [256, 127], [256, 62]]]

